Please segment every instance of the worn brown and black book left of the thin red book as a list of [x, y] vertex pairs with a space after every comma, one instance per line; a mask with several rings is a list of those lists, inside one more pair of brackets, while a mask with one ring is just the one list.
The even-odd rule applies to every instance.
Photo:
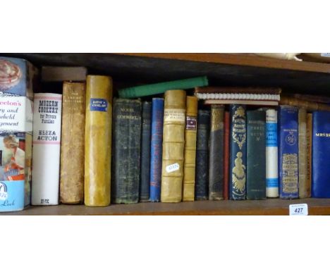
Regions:
[[209, 200], [224, 199], [224, 106], [211, 105]]

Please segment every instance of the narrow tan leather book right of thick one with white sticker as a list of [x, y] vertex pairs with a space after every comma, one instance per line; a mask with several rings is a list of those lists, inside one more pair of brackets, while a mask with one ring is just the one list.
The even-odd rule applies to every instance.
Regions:
[[194, 201], [198, 99], [195, 96], [187, 96], [185, 104], [185, 162], [183, 169], [183, 201]]

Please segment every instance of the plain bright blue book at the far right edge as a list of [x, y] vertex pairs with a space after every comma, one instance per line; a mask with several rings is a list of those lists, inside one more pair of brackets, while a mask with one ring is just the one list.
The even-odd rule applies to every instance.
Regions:
[[312, 197], [330, 198], [330, 112], [315, 111], [312, 126]]

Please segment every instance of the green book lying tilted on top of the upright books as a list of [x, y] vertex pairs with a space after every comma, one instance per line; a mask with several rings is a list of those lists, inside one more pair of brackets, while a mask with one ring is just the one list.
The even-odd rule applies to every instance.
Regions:
[[120, 98], [137, 98], [154, 94], [164, 94], [169, 89], [193, 89], [195, 87], [208, 86], [207, 77], [193, 77], [185, 80], [174, 80], [150, 85], [142, 85], [120, 89], [118, 91]]

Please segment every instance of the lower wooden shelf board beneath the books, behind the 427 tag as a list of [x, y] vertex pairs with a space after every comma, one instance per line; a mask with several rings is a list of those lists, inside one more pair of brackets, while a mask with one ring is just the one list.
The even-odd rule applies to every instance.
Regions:
[[330, 199], [267, 199], [262, 201], [194, 201], [176, 204], [140, 203], [87, 207], [30, 206], [0, 215], [288, 215], [290, 204], [307, 204], [309, 215], [330, 215]]

